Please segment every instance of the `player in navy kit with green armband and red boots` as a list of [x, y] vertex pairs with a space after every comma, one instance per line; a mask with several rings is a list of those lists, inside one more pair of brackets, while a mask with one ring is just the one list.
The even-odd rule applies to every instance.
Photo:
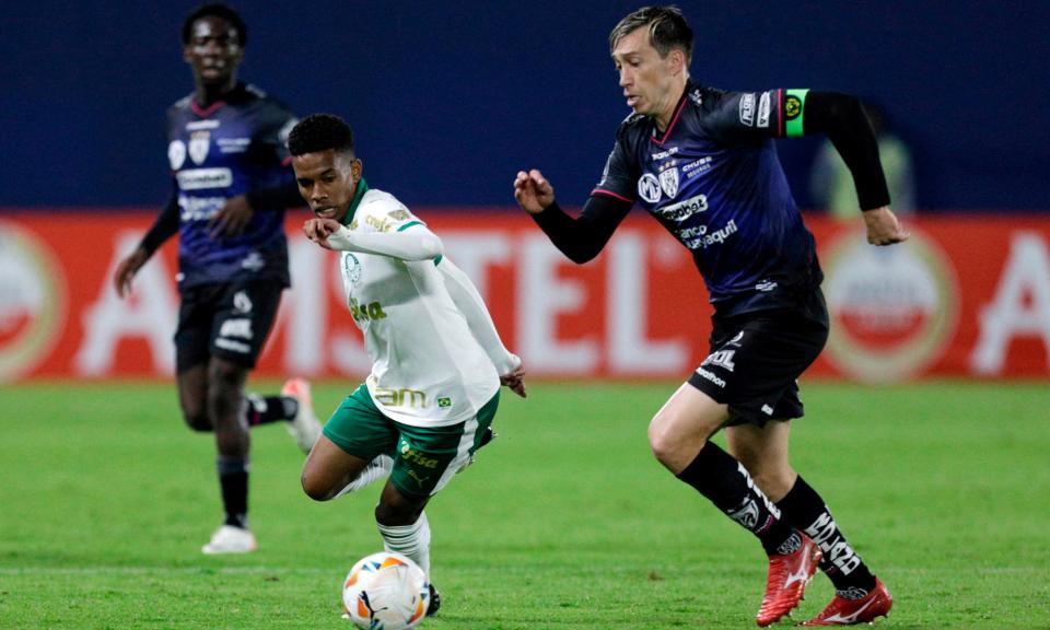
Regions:
[[[692, 254], [714, 305], [710, 354], [653, 417], [650, 445], [678, 479], [752, 532], [769, 556], [756, 621], [788, 615], [819, 567], [836, 586], [808, 626], [871, 621], [889, 591], [847, 542], [820, 495], [788, 460], [803, 415], [796, 378], [828, 336], [813, 235], [772, 139], [825, 133], [850, 167], [874, 245], [908, 237], [889, 209], [860, 102], [815, 90], [725, 92], [689, 75], [692, 31], [673, 7], [626, 16], [609, 36], [633, 113], [579, 218], [539, 171], [514, 196], [573, 261], [595, 257], [639, 203]], [[728, 453], [710, 442], [725, 428]]]

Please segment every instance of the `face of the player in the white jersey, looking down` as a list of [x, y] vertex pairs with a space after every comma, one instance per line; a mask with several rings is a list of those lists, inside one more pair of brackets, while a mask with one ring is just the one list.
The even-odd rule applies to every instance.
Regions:
[[292, 158], [299, 192], [314, 214], [342, 223], [361, 179], [361, 161], [335, 149]]

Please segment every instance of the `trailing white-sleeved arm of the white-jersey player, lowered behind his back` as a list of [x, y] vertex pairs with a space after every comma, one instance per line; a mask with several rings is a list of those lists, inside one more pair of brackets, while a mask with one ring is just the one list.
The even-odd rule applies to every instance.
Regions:
[[489, 360], [495, 365], [501, 383], [524, 398], [525, 370], [522, 368], [522, 359], [503, 345], [503, 340], [500, 339], [500, 334], [495, 329], [495, 324], [489, 315], [489, 310], [481, 299], [481, 293], [470, 281], [470, 277], [448, 257], [441, 259], [438, 270], [445, 282], [448, 296], [452, 298], [456, 307], [467, 319], [470, 334], [478, 340]]

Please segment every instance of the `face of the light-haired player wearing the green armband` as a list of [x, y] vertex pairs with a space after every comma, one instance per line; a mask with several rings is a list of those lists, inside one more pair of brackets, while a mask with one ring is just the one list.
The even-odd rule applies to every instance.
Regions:
[[620, 74], [627, 105], [638, 114], [662, 116], [674, 109], [680, 94], [676, 78], [684, 70], [675, 50], [661, 58], [649, 43], [649, 28], [631, 31], [617, 42], [612, 61]]

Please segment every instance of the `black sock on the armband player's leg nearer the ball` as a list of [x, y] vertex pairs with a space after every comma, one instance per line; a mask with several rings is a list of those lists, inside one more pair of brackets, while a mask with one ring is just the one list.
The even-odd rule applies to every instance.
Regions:
[[767, 553], [790, 553], [802, 542], [780, 518], [780, 510], [759, 490], [747, 469], [718, 444], [704, 444], [678, 478], [755, 534]]

